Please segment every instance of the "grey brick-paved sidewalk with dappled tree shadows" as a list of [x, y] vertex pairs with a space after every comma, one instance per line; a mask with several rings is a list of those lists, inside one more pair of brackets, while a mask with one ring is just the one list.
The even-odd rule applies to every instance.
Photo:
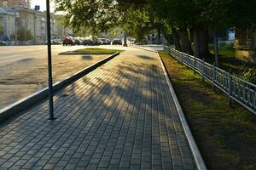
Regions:
[[0, 126], [1, 169], [195, 169], [157, 54], [125, 51]]

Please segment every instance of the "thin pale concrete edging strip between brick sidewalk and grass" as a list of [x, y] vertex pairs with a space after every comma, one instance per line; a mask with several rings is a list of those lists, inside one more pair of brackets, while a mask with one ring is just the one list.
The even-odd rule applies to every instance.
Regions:
[[190, 131], [190, 128], [189, 128], [189, 124], [188, 122], [186, 121], [186, 118], [184, 116], [184, 113], [183, 113], [183, 109], [177, 99], [177, 95], [172, 87], [172, 82], [168, 76], [168, 73], [166, 71], [166, 67], [162, 61], [162, 59], [160, 58], [160, 54], [158, 53], [158, 58], [160, 59], [160, 63], [161, 63], [161, 66], [162, 66], [162, 69], [164, 71], [164, 74], [165, 74], [165, 77], [166, 77], [166, 81], [168, 83], [168, 86], [170, 88], [170, 91], [171, 91], [171, 94], [172, 94], [172, 98], [174, 100], [174, 103], [176, 105], [176, 108], [177, 108], [177, 113], [178, 113], [178, 116], [180, 118], [180, 121], [182, 123], [182, 126], [183, 126], [183, 129], [184, 129], [184, 132], [185, 132], [185, 135], [189, 141], [189, 145], [190, 145], [190, 149], [192, 150], [192, 153], [193, 153], [193, 156], [194, 156], [194, 159], [195, 159], [195, 164], [196, 164], [196, 167], [198, 168], [198, 170], [207, 170], [207, 166], [205, 164], [205, 162], [203, 161], [202, 159], [202, 156], [201, 156], [201, 153], [200, 153], [200, 150], [198, 149], [197, 147], [197, 144], [195, 143], [195, 139]]

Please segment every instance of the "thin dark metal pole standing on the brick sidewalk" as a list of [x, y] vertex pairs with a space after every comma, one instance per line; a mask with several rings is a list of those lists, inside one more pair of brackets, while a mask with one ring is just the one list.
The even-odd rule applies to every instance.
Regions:
[[47, 18], [47, 44], [48, 44], [48, 86], [49, 86], [49, 120], [54, 120], [53, 86], [52, 86], [52, 63], [51, 63], [51, 42], [50, 42], [50, 11], [49, 0], [46, 0]]

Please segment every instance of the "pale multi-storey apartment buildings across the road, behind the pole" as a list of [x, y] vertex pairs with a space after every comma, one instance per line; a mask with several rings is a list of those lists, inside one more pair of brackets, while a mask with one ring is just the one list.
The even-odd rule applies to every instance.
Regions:
[[[27, 41], [29, 44], [44, 44], [47, 39], [45, 11], [30, 8], [30, 0], [0, 0], [0, 4], [3, 6], [0, 7], [0, 39], [5, 37], [4, 41], [21, 41], [21, 44]], [[54, 13], [50, 15], [53, 39], [73, 35], [71, 29], [63, 26], [62, 17]]]

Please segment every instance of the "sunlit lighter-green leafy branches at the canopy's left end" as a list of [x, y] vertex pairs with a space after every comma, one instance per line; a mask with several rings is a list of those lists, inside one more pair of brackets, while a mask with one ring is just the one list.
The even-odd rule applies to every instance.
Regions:
[[[125, 14], [135, 1], [115, 0], [55, 0], [56, 11], [65, 11], [65, 24], [74, 31], [84, 28], [105, 32], [124, 23]], [[137, 4], [142, 3], [138, 2]]]

